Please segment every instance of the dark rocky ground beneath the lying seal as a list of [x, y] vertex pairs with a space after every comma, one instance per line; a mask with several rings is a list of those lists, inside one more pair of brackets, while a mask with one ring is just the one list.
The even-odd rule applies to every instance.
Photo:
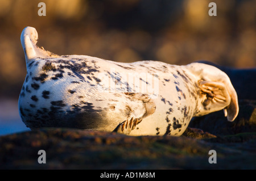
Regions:
[[[39, 150], [46, 164], [39, 164]], [[217, 163], [209, 163], [216, 150]], [[0, 137], [0, 169], [256, 169], [256, 102], [240, 101], [230, 123], [222, 111], [191, 121], [183, 136], [126, 136], [46, 128]]]

